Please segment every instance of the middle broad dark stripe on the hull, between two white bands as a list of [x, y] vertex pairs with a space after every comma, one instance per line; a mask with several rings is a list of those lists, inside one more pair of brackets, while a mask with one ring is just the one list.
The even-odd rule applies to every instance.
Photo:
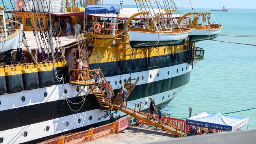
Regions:
[[[190, 72], [169, 79], [163, 79], [152, 83], [137, 85], [129, 97], [130, 100], [145, 98], [160, 92], [172, 90], [181, 87], [189, 82]], [[80, 89], [81, 90], [81, 89]], [[69, 91], [68, 91], [69, 92]], [[117, 90], [115, 90], [117, 93]], [[170, 94], [172, 96], [172, 94]], [[69, 98], [70, 102], [78, 103], [83, 100], [83, 96]], [[70, 105], [73, 110], [81, 107], [81, 104]], [[39, 103], [14, 109], [0, 111], [0, 131], [12, 129], [15, 127], [27, 126], [47, 120], [56, 119], [71, 114], [82, 113], [93, 109], [98, 109], [99, 104], [93, 94], [89, 94], [80, 111], [74, 112], [67, 105], [66, 100], [57, 100], [53, 102]]]

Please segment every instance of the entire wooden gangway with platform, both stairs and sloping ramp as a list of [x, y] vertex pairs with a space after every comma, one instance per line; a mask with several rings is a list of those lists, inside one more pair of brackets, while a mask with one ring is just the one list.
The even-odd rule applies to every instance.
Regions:
[[[106, 82], [106, 87], [110, 87], [110, 85], [107, 83], [106, 78], [104, 77], [104, 74], [102, 73], [102, 71], [100, 69], [94, 69], [94, 70], [76, 70], [76, 69], [70, 69], [70, 70], [74, 70], [74, 71], [83, 71], [86, 73], [85, 75], [85, 81], [75, 81], [75, 79], [73, 79], [73, 81], [71, 81], [70, 83], [73, 85], [88, 85], [89, 88], [91, 89], [91, 91], [93, 92], [93, 94], [95, 95], [96, 100], [98, 101], [100, 108], [101, 109], [105, 109], [108, 111], [112, 111], [112, 110], [118, 110], [121, 111], [123, 113], [126, 114], [130, 114], [131, 116], [134, 116], [135, 118], [143, 121], [143, 122], [147, 122], [148, 124], [150, 124], [151, 126], [155, 126], [158, 127], [160, 129], [163, 129], [165, 131], [168, 131], [174, 135], [177, 135], [179, 137], [186, 137], [188, 135], [188, 133], [186, 133], [183, 129], [183, 127], [174, 127], [172, 125], [167, 124], [168, 122], [165, 123], [165, 116], [162, 122], [160, 122], [161, 124], [159, 124], [158, 120], [150, 120], [149, 119], [149, 110], [148, 113], [142, 113], [141, 112], [141, 103], [140, 103], [140, 107], [139, 107], [139, 111], [136, 111], [136, 103], [135, 103], [135, 107], [134, 109], [131, 108], [125, 108], [122, 107], [122, 94], [118, 94], [114, 101], [111, 103], [110, 100], [107, 98], [104, 90], [102, 89], [102, 82], [105, 81]], [[100, 75], [100, 79], [97, 79], [97, 81], [95, 82], [95, 77], [93, 76], [92, 72], [99, 72]], [[131, 80], [135, 80], [134, 83], [131, 83]], [[126, 105], [127, 105], [127, 100], [132, 92], [132, 90], [134, 90], [137, 82], [139, 81], [139, 77], [137, 79], [131, 79], [128, 78], [127, 81], [124, 84], [124, 88], [127, 89], [127, 94], [126, 94]], [[112, 89], [111, 93], [112, 96], [114, 97], [115, 94], [113, 92]], [[121, 90], [120, 90], [121, 91]], [[169, 115], [170, 116], [170, 115]], [[182, 125], [181, 125], [182, 126]]]

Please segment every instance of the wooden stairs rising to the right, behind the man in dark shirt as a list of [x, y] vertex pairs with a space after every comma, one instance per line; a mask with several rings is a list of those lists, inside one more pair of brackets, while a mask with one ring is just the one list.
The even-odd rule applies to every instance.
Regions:
[[[135, 80], [135, 83], [131, 83], [131, 80]], [[134, 89], [134, 87], [136, 86], [138, 81], [139, 81], [139, 77], [137, 79], [131, 79], [131, 78], [127, 79], [126, 83], [124, 84], [124, 88], [127, 89], [125, 102], [127, 102], [127, 99], [129, 98], [132, 90]], [[120, 92], [121, 92], [121, 90], [120, 90]], [[121, 105], [121, 103], [122, 103], [122, 94], [118, 94], [112, 104], [113, 105], [119, 105], [119, 104]]]

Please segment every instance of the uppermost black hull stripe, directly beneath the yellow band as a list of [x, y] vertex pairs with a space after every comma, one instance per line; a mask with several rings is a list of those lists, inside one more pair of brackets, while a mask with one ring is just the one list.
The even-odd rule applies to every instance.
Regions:
[[187, 63], [188, 52], [178, 52], [174, 55], [160, 55], [154, 57], [146, 57], [139, 59], [130, 59], [122, 61], [113, 61], [106, 63], [89, 64], [91, 69], [101, 68], [105, 77], [117, 76], [120, 74], [130, 74], [152, 70], [156, 68], [164, 68], [168, 66], [180, 65]]

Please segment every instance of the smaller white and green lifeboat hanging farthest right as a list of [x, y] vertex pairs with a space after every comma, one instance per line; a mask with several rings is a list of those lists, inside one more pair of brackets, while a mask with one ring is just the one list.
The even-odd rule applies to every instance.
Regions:
[[219, 35], [221, 32], [221, 29], [223, 28], [223, 25], [221, 24], [209, 24], [209, 25], [203, 25], [203, 26], [189, 26], [189, 29], [192, 30], [191, 33], [189, 33], [189, 41], [190, 42], [198, 42], [198, 41], [204, 41], [208, 39], [214, 39]]

